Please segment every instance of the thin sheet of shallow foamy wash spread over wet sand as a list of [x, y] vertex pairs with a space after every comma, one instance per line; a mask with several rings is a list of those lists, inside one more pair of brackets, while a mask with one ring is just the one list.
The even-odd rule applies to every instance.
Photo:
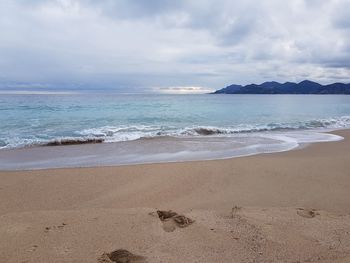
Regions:
[[[159, 137], [125, 142], [76, 145], [57, 143], [53, 146], [2, 149], [0, 150], [0, 171], [227, 160], [288, 152], [309, 144], [343, 140], [343, 137], [336, 134], [337, 131], [342, 130], [346, 129], [253, 133], [253, 136], [244, 134], [245, 137]], [[245, 142], [247, 139], [256, 140], [256, 142], [250, 142], [253, 143], [250, 145]], [[199, 148], [191, 146], [200, 144], [203, 146]]]

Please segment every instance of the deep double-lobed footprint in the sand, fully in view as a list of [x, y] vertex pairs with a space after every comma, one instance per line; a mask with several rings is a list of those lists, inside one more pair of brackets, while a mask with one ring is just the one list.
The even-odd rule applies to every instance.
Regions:
[[187, 227], [194, 223], [194, 220], [184, 215], [179, 215], [174, 211], [160, 211], [157, 210], [158, 217], [163, 223], [163, 229], [166, 232], [175, 231], [176, 227]]

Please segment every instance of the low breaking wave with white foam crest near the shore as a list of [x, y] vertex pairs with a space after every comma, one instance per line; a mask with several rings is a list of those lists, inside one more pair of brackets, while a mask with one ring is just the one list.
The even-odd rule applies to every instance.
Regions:
[[[191, 137], [191, 136], [234, 136], [238, 134], [288, 132], [297, 130], [340, 129], [350, 127], [350, 116], [312, 119], [293, 123], [240, 124], [235, 126], [158, 126], [158, 125], [121, 125], [103, 126], [75, 131], [73, 137], [42, 136], [21, 138], [0, 138], [0, 149], [23, 148], [42, 145], [71, 145], [85, 143], [121, 142], [156, 137]], [[43, 139], [45, 137], [45, 139]]]

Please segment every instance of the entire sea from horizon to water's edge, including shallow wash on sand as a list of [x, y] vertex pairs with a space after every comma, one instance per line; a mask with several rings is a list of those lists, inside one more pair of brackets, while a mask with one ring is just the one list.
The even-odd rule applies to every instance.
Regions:
[[346, 95], [3, 94], [0, 170], [281, 152], [349, 127]]

